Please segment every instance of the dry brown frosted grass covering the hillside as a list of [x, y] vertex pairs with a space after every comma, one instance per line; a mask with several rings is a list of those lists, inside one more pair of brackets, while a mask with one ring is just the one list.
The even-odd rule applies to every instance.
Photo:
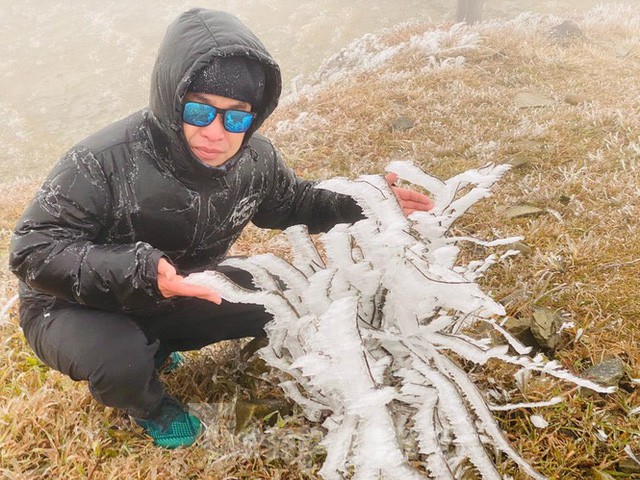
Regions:
[[[457, 227], [481, 237], [522, 235], [533, 249], [490, 271], [485, 288], [495, 298], [522, 291], [509, 306], [512, 315], [528, 315], [539, 304], [573, 321], [556, 353], [569, 370], [580, 372], [619, 356], [629, 377], [638, 378], [640, 17], [634, 15], [629, 10], [576, 18], [585, 35], [562, 42], [549, 37], [553, 19], [544, 17], [479, 26], [480, 47], [464, 53], [462, 67], [421, 71], [427, 56], [407, 50], [382, 70], [327, 84], [313, 98], [281, 108], [266, 130], [298, 173], [314, 178], [381, 172], [389, 159], [412, 159], [447, 178], [488, 161], [527, 157], [530, 163], [508, 173], [494, 196]], [[385, 42], [395, 45], [437, 27], [407, 27], [391, 32]], [[555, 102], [518, 108], [514, 97], [521, 91]], [[564, 101], [568, 94], [586, 101], [571, 105]], [[316, 119], [314, 126], [310, 119], [282, 128], [279, 122], [292, 122], [300, 112], [313, 113], [324, 124]], [[392, 131], [400, 115], [412, 118], [414, 127]], [[25, 202], [10, 198], [0, 227], [3, 242]], [[502, 215], [505, 207], [520, 203], [550, 213], [517, 220]], [[235, 253], [265, 249], [282, 252], [283, 241], [250, 230]], [[12, 282], [4, 282], [9, 285], [4, 298], [15, 291]], [[258, 426], [238, 436], [228, 412], [222, 412], [196, 447], [153, 448], [129, 420], [97, 405], [84, 385], [43, 367], [16, 322], [14, 309], [0, 332], [0, 476], [317, 478], [322, 454], [314, 445], [320, 431], [297, 416], [271, 434]], [[575, 340], [578, 329], [584, 333]], [[192, 355], [168, 380], [170, 387], [185, 401], [223, 405], [236, 397], [279, 395], [270, 376], [243, 382], [235, 346]], [[534, 428], [529, 412], [499, 416], [536, 468], [551, 478], [591, 478], [592, 468], [632, 478], [618, 471], [618, 462], [626, 457], [626, 445], [640, 452], [640, 415], [628, 415], [640, 404], [637, 385], [626, 379], [618, 393], [601, 396], [538, 378], [521, 392], [512, 373], [491, 364], [478, 375], [480, 382], [492, 377], [513, 400], [567, 395], [564, 403], [536, 412], [549, 422], [546, 429]], [[596, 437], [599, 429], [605, 440]], [[511, 463], [503, 467], [522, 478]]]

